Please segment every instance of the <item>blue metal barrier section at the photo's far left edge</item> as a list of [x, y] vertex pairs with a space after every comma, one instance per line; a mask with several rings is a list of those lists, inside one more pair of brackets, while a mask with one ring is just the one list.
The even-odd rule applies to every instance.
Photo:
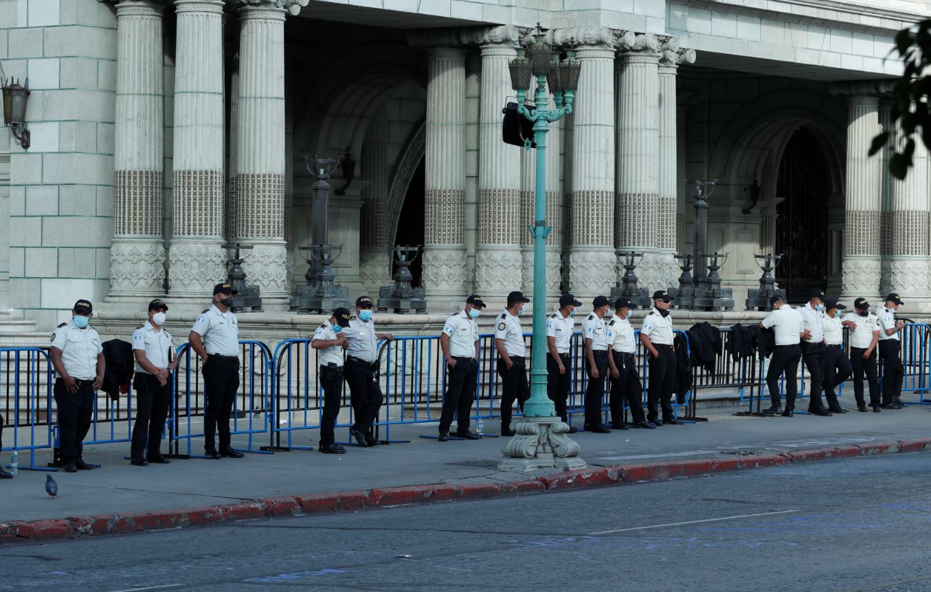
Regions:
[[[54, 447], [52, 429], [52, 384], [55, 370], [47, 351], [41, 348], [0, 348], [0, 397], [7, 428], [5, 451], [20, 454], [19, 468], [55, 471], [39, 466], [35, 451]], [[23, 437], [28, 429], [28, 436]], [[10, 442], [12, 443], [10, 445]]]

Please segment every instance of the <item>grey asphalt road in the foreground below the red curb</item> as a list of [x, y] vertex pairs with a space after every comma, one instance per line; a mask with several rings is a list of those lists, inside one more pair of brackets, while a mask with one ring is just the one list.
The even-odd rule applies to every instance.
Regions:
[[931, 590], [931, 452], [0, 547], [0, 590]]

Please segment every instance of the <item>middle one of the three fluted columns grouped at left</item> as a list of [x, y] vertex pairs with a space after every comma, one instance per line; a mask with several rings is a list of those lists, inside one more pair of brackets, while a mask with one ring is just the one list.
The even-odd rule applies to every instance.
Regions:
[[172, 297], [209, 297], [223, 255], [223, 1], [175, 0]]

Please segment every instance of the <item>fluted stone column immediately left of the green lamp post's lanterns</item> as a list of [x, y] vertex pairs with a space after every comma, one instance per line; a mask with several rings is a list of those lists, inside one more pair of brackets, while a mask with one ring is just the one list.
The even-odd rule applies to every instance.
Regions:
[[507, 66], [517, 55], [517, 40], [504, 36], [486, 41], [481, 46], [475, 290], [486, 299], [503, 299], [519, 289], [520, 243], [528, 234], [520, 209], [522, 148], [501, 141], [501, 108], [507, 95], [514, 94]]

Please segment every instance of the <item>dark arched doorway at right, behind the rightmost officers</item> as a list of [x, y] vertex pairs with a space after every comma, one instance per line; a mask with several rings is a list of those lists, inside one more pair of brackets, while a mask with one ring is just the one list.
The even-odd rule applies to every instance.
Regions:
[[814, 134], [799, 128], [779, 162], [776, 196], [776, 282], [790, 302], [804, 302], [828, 284], [830, 172]]

